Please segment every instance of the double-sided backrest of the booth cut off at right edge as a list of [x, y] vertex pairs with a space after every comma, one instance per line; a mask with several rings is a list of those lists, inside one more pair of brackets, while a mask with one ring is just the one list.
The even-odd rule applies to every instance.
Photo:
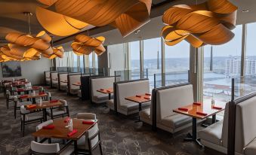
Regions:
[[[243, 148], [256, 138], [256, 96], [246, 99], [236, 105], [236, 152], [242, 153]], [[222, 129], [223, 146], [227, 147], [228, 141], [228, 103], [225, 108]]]

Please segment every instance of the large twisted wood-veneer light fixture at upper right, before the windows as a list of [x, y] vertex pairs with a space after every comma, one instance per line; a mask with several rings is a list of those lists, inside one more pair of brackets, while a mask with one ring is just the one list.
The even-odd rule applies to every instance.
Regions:
[[175, 5], [165, 11], [162, 29], [165, 44], [173, 46], [184, 39], [193, 47], [224, 44], [236, 26], [237, 7], [227, 0], [208, 0], [200, 5]]

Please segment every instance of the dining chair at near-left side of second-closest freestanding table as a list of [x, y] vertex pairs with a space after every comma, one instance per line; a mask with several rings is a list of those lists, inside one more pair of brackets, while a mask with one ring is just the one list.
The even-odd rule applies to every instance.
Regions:
[[39, 110], [26, 110], [24, 105], [20, 106], [20, 124], [21, 124], [21, 131], [23, 132], [23, 136], [25, 135], [25, 125], [31, 123], [42, 123], [44, 120], [43, 114], [39, 114], [42, 112], [41, 109]]

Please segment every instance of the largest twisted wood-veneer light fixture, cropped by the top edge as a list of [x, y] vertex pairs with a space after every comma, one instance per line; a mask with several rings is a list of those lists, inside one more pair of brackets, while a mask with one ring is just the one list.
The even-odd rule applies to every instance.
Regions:
[[152, 0], [38, 0], [51, 10], [38, 7], [39, 23], [54, 35], [72, 35], [85, 26], [115, 26], [122, 36], [150, 21]]

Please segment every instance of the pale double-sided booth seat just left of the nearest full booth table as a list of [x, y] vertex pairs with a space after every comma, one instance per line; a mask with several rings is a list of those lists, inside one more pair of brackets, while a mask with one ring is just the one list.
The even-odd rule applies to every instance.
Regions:
[[[192, 126], [191, 117], [173, 112], [175, 108], [194, 102], [192, 84], [156, 89], [156, 99], [152, 99], [152, 102], [154, 100], [156, 100], [156, 127], [174, 133]], [[153, 103], [150, 108], [140, 111], [140, 120], [152, 125]]]

